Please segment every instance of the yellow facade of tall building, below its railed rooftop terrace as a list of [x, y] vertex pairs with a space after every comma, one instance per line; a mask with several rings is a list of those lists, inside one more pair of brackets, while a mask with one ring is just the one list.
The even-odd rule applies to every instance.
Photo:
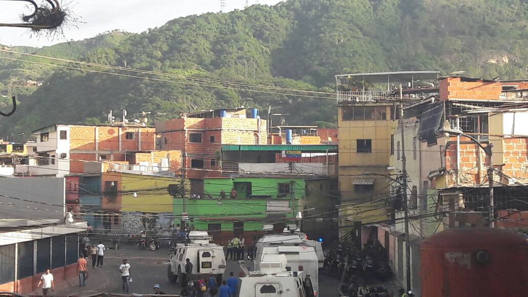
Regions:
[[[390, 102], [338, 104], [339, 187], [341, 226], [354, 221], [379, 222], [389, 218], [384, 200], [389, 196], [390, 156], [398, 125]], [[341, 228], [342, 234], [346, 228]]]

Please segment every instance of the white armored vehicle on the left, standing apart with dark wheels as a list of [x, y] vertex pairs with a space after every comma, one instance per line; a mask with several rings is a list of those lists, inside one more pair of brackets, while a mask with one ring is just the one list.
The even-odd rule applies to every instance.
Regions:
[[204, 231], [191, 231], [189, 234], [190, 243], [178, 243], [174, 251], [170, 254], [170, 263], [167, 269], [169, 282], [183, 281], [182, 273], [185, 272], [185, 260], [188, 258], [193, 264], [191, 275], [195, 277], [202, 274], [204, 277], [215, 276], [217, 283], [222, 283], [222, 276], [225, 272], [224, 248], [215, 243], [211, 243], [212, 237]]

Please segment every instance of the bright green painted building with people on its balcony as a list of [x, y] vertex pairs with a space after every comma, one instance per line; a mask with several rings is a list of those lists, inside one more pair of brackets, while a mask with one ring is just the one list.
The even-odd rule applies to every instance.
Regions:
[[[236, 198], [230, 198], [232, 188]], [[221, 199], [222, 190], [227, 198]], [[187, 213], [197, 230], [209, 231], [215, 239], [245, 237], [262, 233], [264, 225], [282, 230], [295, 224], [295, 214], [303, 209], [306, 195], [304, 178], [286, 176], [240, 176], [204, 179], [201, 199], [175, 198], [174, 215]], [[247, 238], [247, 240], [250, 238]]]

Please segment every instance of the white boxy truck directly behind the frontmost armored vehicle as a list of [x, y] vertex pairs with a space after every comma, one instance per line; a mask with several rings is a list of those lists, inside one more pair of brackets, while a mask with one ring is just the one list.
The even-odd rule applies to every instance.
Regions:
[[265, 269], [267, 263], [277, 262], [277, 255], [284, 256], [284, 267], [310, 277], [314, 293], [319, 290], [319, 267], [314, 247], [306, 243], [257, 243], [253, 257], [254, 270], [260, 271]]

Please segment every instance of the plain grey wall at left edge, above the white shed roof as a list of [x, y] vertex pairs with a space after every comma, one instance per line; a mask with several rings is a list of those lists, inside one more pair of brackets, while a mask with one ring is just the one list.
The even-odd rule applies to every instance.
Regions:
[[2, 218], [64, 219], [64, 178], [0, 178], [0, 195]]

